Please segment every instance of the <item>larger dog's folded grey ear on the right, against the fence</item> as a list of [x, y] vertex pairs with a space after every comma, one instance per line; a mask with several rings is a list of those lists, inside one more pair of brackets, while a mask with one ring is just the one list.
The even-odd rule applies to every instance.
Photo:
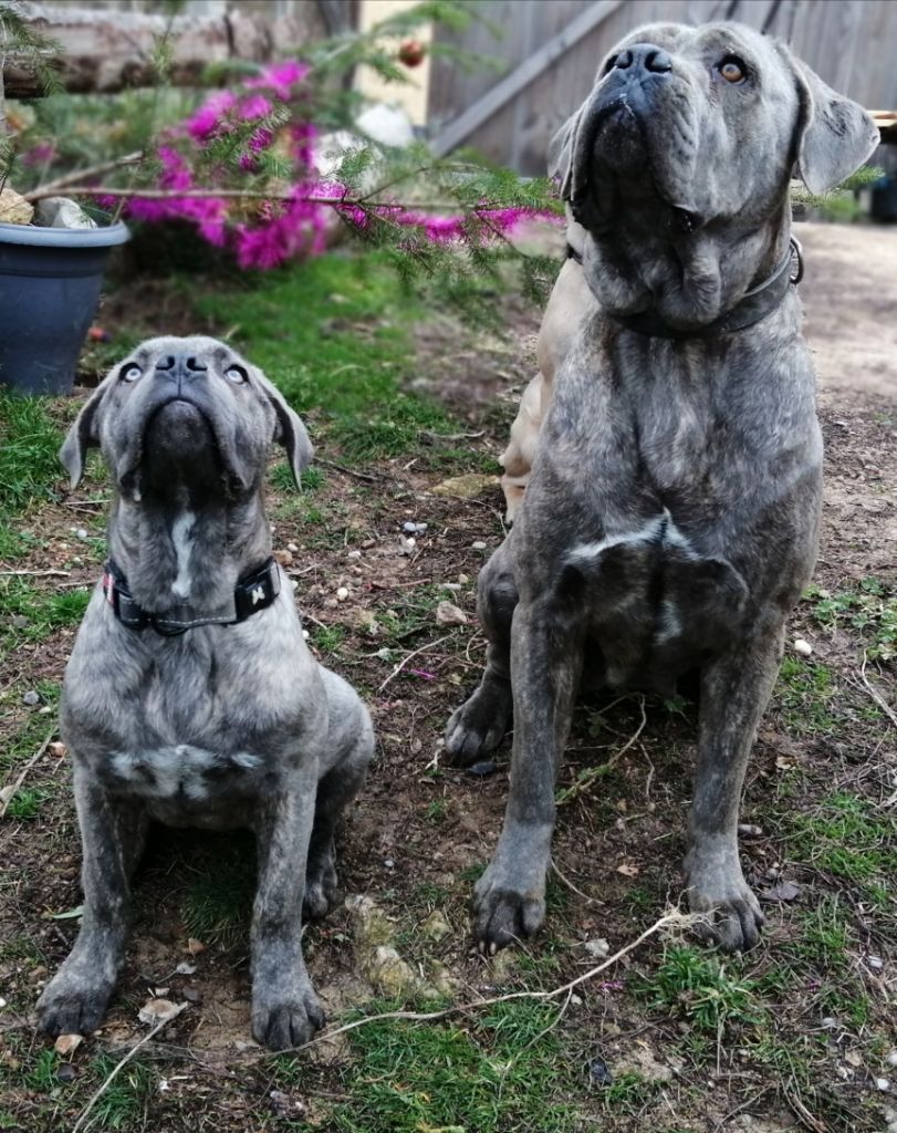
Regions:
[[827, 193], [871, 157], [879, 131], [858, 102], [837, 94], [805, 63], [791, 59], [801, 97], [797, 176], [811, 193]]

